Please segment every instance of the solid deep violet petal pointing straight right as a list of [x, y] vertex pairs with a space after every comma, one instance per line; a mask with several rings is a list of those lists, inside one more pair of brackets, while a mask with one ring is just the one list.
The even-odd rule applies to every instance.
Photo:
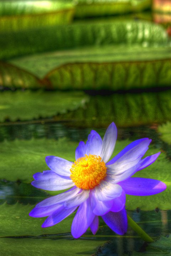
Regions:
[[166, 189], [166, 184], [148, 178], [129, 178], [128, 180], [119, 182], [126, 194], [133, 196], [151, 196], [160, 193]]

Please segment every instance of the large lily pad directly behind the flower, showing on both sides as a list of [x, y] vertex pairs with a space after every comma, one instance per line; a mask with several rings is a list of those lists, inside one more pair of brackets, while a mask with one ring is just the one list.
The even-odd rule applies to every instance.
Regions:
[[[128, 140], [118, 141], [113, 156], [119, 153], [129, 143], [130, 141]], [[59, 139], [58, 141], [47, 139], [15, 140], [14, 142], [4, 141], [0, 147], [1, 158], [4, 159], [0, 164], [0, 179], [10, 181], [19, 179], [30, 182], [33, 180], [32, 175], [34, 173], [48, 169], [44, 160], [47, 155], [55, 155], [69, 161], [74, 161], [77, 146], [78, 143], [70, 142], [65, 138]], [[154, 149], [151, 146], [147, 155], [155, 154], [158, 151], [160, 150]], [[166, 183], [167, 189], [160, 194], [149, 197], [127, 196], [127, 209], [136, 209], [137, 207], [141, 210], [154, 210], [156, 207], [162, 210], [171, 209], [170, 169], [171, 162], [162, 153], [154, 164], [135, 174], [136, 177], [161, 180]], [[57, 191], [57, 193], [60, 192]]]

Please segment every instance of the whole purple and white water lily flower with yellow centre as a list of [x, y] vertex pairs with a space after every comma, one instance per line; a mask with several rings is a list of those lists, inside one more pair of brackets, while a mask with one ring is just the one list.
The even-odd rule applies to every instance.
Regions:
[[77, 208], [71, 234], [79, 238], [90, 227], [98, 230], [98, 217], [119, 235], [127, 231], [125, 194], [150, 196], [166, 189], [165, 183], [149, 178], [131, 177], [152, 164], [160, 152], [142, 159], [151, 139], [135, 140], [111, 160], [117, 139], [117, 128], [111, 123], [103, 140], [92, 130], [86, 144], [80, 142], [75, 151], [75, 162], [47, 156], [50, 170], [33, 175], [32, 185], [49, 191], [67, 191], [38, 203], [31, 217], [47, 217], [42, 228], [53, 226]]

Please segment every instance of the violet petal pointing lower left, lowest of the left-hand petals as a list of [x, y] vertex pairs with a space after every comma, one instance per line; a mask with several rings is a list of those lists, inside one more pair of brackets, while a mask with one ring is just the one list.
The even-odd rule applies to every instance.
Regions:
[[58, 210], [52, 213], [45, 222], [42, 224], [42, 228], [47, 228], [49, 226], [53, 226], [59, 222], [61, 222], [63, 219], [68, 217], [71, 213], [73, 213], [76, 210], [76, 207], [70, 208], [65, 210], [64, 207], [60, 207]]

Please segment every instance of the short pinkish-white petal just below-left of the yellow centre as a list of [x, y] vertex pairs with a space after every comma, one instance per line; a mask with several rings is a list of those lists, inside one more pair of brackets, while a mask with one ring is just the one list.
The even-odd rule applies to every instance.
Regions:
[[66, 209], [69, 209], [74, 206], [79, 206], [81, 203], [87, 200], [87, 198], [89, 197], [89, 193], [90, 190], [82, 190], [79, 194], [66, 201], [64, 207]]

